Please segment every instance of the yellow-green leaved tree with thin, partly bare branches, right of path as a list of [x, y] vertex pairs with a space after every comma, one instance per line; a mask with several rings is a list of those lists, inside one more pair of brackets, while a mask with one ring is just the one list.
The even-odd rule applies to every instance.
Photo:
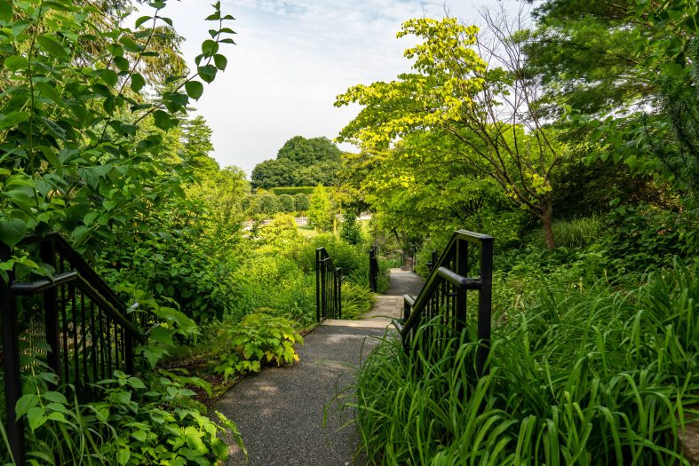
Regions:
[[[414, 73], [390, 83], [353, 86], [339, 96], [338, 107], [363, 106], [341, 139], [358, 139], [365, 150], [385, 150], [397, 139], [409, 141], [409, 135], [429, 129], [434, 140], [444, 141], [433, 147], [439, 163], [468, 165], [494, 180], [542, 222], [552, 249], [550, 178], [567, 150], [536, 112], [536, 83], [528, 79], [521, 43], [512, 38], [515, 31], [491, 26], [504, 53], [490, 53], [487, 62], [473, 49], [475, 27], [451, 18], [403, 23], [399, 37], [424, 41], [405, 51], [415, 60]], [[413, 178], [406, 174], [398, 182], [409, 186]]]

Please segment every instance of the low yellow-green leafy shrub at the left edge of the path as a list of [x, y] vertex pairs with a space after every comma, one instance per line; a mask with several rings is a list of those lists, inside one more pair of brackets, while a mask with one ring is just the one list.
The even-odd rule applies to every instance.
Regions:
[[216, 367], [226, 379], [233, 375], [259, 372], [262, 364], [277, 366], [298, 361], [295, 344], [304, 339], [293, 322], [264, 313], [245, 316], [239, 323], [224, 330], [227, 351], [221, 354]]

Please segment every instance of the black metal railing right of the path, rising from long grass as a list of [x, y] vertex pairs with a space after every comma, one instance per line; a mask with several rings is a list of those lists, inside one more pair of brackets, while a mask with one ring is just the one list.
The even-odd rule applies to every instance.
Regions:
[[[470, 261], [469, 257], [477, 260]], [[450, 339], [467, 337], [462, 333], [466, 331], [468, 292], [478, 291], [476, 340], [480, 345], [476, 351], [476, 372], [482, 375], [490, 351], [493, 237], [458, 230], [441, 257], [433, 252], [428, 268], [430, 274], [425, 286], [417, 297], [403, 296], [403, 319], [394, 320], [403, 344], [409, 348], [417, 328], [433, 320], [439, 325], [420, 329], [420, 347], [425, 351], [442, 351], [442, 345]], [[472, 272], [478, 276], [470, 277]]]

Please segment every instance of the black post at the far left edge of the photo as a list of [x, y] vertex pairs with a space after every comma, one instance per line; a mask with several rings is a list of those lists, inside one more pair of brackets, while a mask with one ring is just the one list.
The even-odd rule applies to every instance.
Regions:
[[[12, 250], [0, 243], [0, 261], [7, 262], [12, 257]], [[5, 414], [7, 415], [7, 440], [14, 462], [24, 464], [24, 419], [17, 419], [15, 407], [22, 396], [20, 378], [20, 346], [17, 328], [17, 306], [10, 292], [10, 284], [14, 280], [13, 270], [7, 271], [8, 281], [0, 279], [0, 314], [3, 322], [3, 352], [4, 352], [4, 391]]]

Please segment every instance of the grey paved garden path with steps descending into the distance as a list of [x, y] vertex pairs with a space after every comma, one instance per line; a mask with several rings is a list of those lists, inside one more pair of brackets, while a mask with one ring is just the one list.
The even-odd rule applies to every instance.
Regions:
[[[338, 401], [352, 396], [343, 389], [353, 383], [354, 368], [377, 345], [391, 318], [401, 316], [402, 295], [417, 295], [422, 285], [415, 273], [392, 269], [391, 288], [386, 296], [377, 296], [364, 319], [324, 320], [306, 335], [300, 363], [247, 376], [218, 400], [216, 409], [241, 430], [248, 464], [362, 463], [354, 458], [359, 438], [353, 413], [340, 411]], [[244, 464], [236, 446], [230, 454], [229, 465]]]

